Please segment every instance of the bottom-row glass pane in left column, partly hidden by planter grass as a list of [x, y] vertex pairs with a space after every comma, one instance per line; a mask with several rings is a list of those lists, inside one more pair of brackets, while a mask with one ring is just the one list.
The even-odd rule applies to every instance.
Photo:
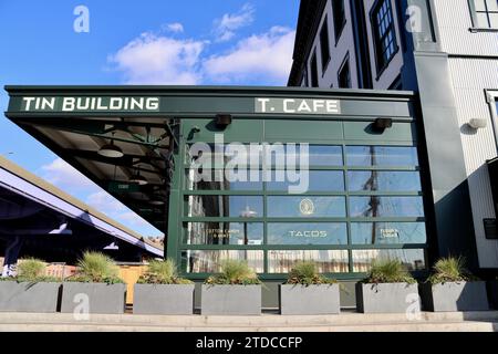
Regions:
[[181, 252], [181, 270], [187, 273], [218, 273], [225, 260], [245, 260], [256, 272], [264, 271], [263, 251], [252, 250], [217, 250]]

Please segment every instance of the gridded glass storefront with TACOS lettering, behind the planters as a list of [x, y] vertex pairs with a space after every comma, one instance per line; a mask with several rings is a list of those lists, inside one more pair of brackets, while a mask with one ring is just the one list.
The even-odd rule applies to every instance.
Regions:
[[[247, 170], [221, 166], [230, 164], [224, 146], [204, 155], [211, 159], [209, 168], [189, 165], [198, 154], [187, 148], [181, 270], [217, 272], [226, 259], [247, 260], [262, 274], [284, 274], [300, 260], [335, 274], [367, 272], [375, 259], [398, 259], [412, 271], [425, 270], [427, 231], [416, 146], [334, 142], [301, 147], [298, 142], [271, 147], [268, 154], [264, 148], [242, 154], [246, 163], [239, 167], [258, 162]], [[228, 146], [225, 153], [234, 155]], [[304, 150], [309, 170], [286, 174], [286, 164], [299, 160]], [[305, 190], [290, 192], [304, 177]]]

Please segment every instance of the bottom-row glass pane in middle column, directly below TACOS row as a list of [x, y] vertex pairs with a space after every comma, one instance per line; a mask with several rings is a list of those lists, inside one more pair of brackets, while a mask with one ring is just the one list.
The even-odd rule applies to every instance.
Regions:
[[268, 251], [268, 271], [289, 273], [299, 261], [317, 262], [320, 273], [347, 273], [347, 251]]

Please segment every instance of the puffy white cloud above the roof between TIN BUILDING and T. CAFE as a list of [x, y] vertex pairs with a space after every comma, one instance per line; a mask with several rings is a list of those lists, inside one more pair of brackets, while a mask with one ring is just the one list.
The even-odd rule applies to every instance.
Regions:
[[143, 33], [108, 61], [125, 75], [126, 84], [195, 85], [206, 42]]

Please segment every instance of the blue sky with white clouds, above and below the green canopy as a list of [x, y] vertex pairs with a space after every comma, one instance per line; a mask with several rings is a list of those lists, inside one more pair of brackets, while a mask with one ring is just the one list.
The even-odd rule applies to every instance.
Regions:
[[[87, 33], [74, 31], [77, 6], [89, 9]], [[0, 84], [286, 85], [298, 10], [298, 0], [0, 0]], [[0, 155], [158, 235], [4, 116]]]

